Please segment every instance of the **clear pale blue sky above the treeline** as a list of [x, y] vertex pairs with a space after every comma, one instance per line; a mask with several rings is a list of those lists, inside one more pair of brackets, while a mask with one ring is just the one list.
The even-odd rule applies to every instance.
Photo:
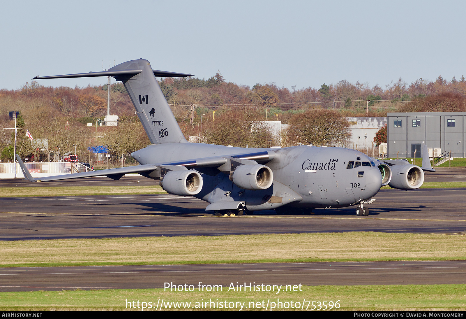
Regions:
[[139, 58], [200, 78], [219, 69], [249, 86], [458, 79], [466, 76], [465, 12], [465, 1], [2, 2], [0, 89]]

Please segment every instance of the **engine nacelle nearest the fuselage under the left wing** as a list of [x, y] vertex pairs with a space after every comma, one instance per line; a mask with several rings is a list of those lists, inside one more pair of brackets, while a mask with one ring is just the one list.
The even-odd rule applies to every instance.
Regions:
[[274, 173], [265, 165], [240, 165], [232, 176], [233, 183], [244, 189], [259, 190], [272, 186]]

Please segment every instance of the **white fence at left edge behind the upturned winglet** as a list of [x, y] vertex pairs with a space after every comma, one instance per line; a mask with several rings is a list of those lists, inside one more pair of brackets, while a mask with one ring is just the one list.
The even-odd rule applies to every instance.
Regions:
[[[25, 163], [27, 170], [32, 177], [55, 176], [71, 173], [71, 163]], [[20, 164], [16, 163], [16, 177], [24, 178]], [[0, 163], [0, 179], [15, 178], [14, 163]]]

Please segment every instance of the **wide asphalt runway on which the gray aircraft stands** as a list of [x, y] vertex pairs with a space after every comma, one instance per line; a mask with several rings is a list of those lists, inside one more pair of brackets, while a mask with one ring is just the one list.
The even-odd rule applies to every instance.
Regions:
[[466, 190], [383, 190], [369, 216], [355, 208], [313, 215], [213, 216], [208, 203], [169, 194], [0, 198], [0, 240], [382, 231], [466, 234]]

